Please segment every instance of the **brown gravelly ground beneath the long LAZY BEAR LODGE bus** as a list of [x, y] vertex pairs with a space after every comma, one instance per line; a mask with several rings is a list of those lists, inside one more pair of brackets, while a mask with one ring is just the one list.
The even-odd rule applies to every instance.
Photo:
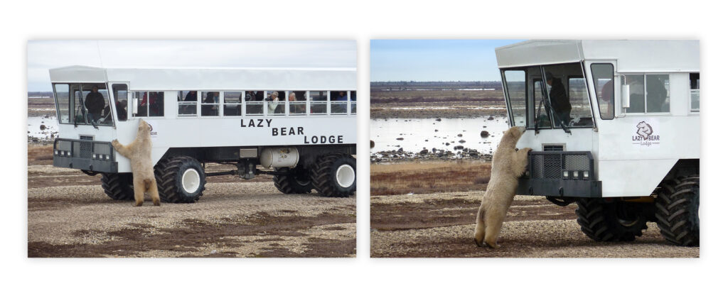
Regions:
[[[114, 201], [100, 175], [28, 150], [28, 257], [355, 257], [356, 198], [284, 195], [270, 177], [210, 177], [195, 204]], [[207, 172], [228, 170], [208, 165]]]

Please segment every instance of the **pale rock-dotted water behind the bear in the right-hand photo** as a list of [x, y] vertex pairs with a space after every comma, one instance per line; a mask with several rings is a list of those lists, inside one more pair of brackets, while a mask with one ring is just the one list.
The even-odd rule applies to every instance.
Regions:
[[[454, 150], [456, 145], [464, 148], [478, 150], [480, 153], [491, 153], [497, 142], [508, 129], [505, 116], [494, 116], [493, 120], [482, 118], [389, 118], [371, 119], [369, 121], [369, 135], [374, 141], [374, 148], [370, 153], [387, 150], [399, 150], [419, 153], [423, 148], [432, 150]], [[486, 127], [483, 127], [486, 126]], [[435, 129], [438, 132], [435, 132]], [[486, 130], [488, 137], [480, 137], [480, 132]], [[462, 137], [458, 137], [462, 134]], [[397, 138], [404, 140], [397, 140]], [[459, 142], [464, 140], [465, 142]], [[445, 145], [449, 142], [450, 145]]]

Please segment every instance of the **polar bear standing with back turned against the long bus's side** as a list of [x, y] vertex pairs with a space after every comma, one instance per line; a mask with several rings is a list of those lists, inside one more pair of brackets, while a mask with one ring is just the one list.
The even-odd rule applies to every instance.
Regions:
[[149, 192], [154, 206], [159, 206], [159, 192], [157, 180], [154, 178], [154, 164], [151, 164], [151, 126], [146, 121], [139, 121], [137, 137], [129, 145], [122, 145], [118, 140], [111, 141], [111, 145], [122, 156], [131, 160], [132, 176], [134, 177], [135, 206], [144, 203], [144, 193]]

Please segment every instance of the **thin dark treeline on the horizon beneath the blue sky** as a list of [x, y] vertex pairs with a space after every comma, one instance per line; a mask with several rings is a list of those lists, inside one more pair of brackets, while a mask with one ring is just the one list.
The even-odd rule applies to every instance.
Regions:
[[369, 86], [372, 91], [417, 89], [503, 89], [500, 81], [373, 81]]

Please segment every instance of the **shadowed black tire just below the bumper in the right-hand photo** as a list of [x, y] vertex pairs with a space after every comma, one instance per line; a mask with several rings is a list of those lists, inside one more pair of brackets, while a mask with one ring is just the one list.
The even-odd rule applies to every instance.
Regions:
[[644, 203], [579, 198], [577, 223], [595, 241], [634, 241], [647, 228]]

